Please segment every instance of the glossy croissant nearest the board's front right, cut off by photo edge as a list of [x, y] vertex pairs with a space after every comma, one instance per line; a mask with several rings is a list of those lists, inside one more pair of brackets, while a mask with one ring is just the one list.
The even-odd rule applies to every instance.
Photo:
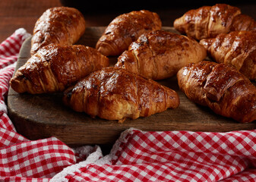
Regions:
[[191, 101], [242, 123], [256, 120], [256, 87], [232, 65], [191, 63], [177, 78], [179, 88]]

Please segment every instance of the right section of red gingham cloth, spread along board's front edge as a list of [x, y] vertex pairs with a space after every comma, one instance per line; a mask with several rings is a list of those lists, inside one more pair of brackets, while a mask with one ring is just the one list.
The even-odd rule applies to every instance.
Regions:
[[68, 181], [256, 181], [255, 137], [255, 131], [130, 129], [122, 133], [105, 164], [84, 163], [61, 174]]

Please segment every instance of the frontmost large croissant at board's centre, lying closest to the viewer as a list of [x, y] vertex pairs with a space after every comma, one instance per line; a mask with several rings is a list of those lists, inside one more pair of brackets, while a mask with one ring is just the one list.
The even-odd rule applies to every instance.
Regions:
[[65, 105], [92, 118], [124, 121], [179, 106], [174, 90], [125, 69], [104, 67], [66, 89]]

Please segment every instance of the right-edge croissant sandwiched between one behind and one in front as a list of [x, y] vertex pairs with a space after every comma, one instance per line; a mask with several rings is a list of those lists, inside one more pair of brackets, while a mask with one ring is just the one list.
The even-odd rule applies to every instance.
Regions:
[[218, 63], [232, 64], [250, 80], [256, 80], [256, 30], [221, 33], [201, 39], [207, 54]]

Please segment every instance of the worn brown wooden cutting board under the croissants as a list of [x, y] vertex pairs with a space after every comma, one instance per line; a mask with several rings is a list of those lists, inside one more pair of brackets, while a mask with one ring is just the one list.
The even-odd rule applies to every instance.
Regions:
[[[88, 27], [77, 44], [95, 47], [106, 27]], [[172, 27], [163, 30], [175, 32]], [[30, 58], [30, 39], [27, 39], [17, 61], [21, 67]], [[111, 58], [115, 64], [116, 58]], [[134, 127], [141, 130], [191, 130], [226, 132], [231, 130], [251, 130], [256, 121], [242, 124], [230, 118], [216, 115], [207, 107], [190, 102], [179, 91], [175, 77], [159, 81], [179, 93], [180, 105], [147, 118], [127, 119], [120, 124], [90, 118], [85, 113], [72, 111], [62, 104], [62, 93], [30, 95], [19, 94], [13, 89], [8, 93], [8, 113], [18, 133], [30, 140], [57, 137], [69, 146], [104, 144], [112, 145], [122, 131]]]

